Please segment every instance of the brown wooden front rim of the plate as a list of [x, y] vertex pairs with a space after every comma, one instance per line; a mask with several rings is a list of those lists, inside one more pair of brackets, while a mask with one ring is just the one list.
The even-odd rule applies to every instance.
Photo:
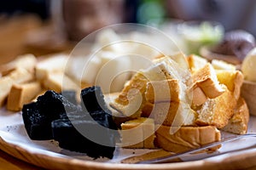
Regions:
[[[80, 168], [90, 168], [90, 169], [122, 169], [122, 170], [152, 170], [152, 169], [233, 169], [236, 168], [247, 168], [256, 166], [256, 148], [252, 150], [247, 150], [248, 153], [241, 155], [230, 155], [225, 157], [220, 163], [220, 161], [211, 160], [198, 160], [198, 161], [183, 161], [183, 162], [172, 162], [172, 163], [161, 163], [161, 164], [127, 164], [127, 163], [111, 163], [111, 162], [97, 162], [97, 161], [87, 161], [80, 160], [72, 157], [55, 157], [44, 155], [41, 153], [33, 153], [32, 150], [26, 150], [19, 144], [12, 144], [7, 142], [3, 137], [0, 137], [0, 149], [8, 153], [11, 156], [15, 156], [21, 161], [26, 161], [32, 165], [38, 167], [44, 167], [46, 169], [80, 169]], [[243, 163], [241, 163], [243, 162]], [[248, 162], [248, 163], [244, 163]], [[250, 165], [249, 165], [250, 163]]]

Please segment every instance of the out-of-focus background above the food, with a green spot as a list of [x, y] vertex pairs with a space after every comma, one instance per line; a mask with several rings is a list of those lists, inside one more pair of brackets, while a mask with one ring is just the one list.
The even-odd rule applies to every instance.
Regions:
[[166, 31], [178, 43], [177, 26], [218, 23], [256, 36], [252, 0], [9, 0], [0, 2], [0, 58], [44, 55], [73, 48], [90, 32], [116, 23], [141, 23]]

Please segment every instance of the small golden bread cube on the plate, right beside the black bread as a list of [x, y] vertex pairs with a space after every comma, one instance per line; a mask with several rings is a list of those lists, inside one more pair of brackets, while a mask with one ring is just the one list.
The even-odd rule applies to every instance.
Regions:
[[154, 148], [154, 120], [139, 117], [121, 124], [122, 146], [125, 148]]

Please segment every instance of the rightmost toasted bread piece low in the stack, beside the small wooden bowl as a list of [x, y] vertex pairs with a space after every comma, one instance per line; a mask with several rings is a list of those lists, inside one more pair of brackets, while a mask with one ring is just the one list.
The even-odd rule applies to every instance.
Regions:
[[244, 99], [238, 99], [234, 115], [230, 118], [229, 123], [222, 129], [226, 132], [245, 134], [249, 121], [249, 111]]

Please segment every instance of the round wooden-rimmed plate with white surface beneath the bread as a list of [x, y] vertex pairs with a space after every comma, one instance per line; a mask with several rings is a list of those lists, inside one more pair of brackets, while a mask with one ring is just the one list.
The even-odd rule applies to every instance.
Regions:
[[[256, 133], [256, 116], [250, 117], [248, 133]], [[226, 135], [226, 134], [225, 134]], [[129, 156], [136, 156], [150, 150], [124, 150], [117, 149], [112, 160], [106, 158], [93, 160], [90, 157], [61, 150], [52, 140], [35, 141], [29, 139], [20, 113], [0, 110], [0, 149], [23, 161], [39, 167], [49, 169], [232, 169], [256, 166], [256, 138], [240, 139], [229, 144], [224, 144], [219, 153], [235, 150], [231, 153], [213, 156], [207, 159], [164, 164], [124, 164], [120, 160]], [[245, 149], [247, 148], [247, 149]]]

